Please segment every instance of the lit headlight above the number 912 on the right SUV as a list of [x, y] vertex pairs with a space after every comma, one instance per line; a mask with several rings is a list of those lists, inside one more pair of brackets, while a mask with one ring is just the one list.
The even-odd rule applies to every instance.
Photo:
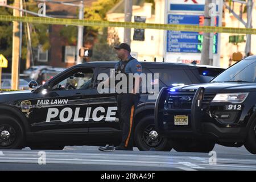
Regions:
[[218, 93], [212, 102], [231, 102], [233, 104], [242, 103], [248, 96], [248, 92], [244, 93]]

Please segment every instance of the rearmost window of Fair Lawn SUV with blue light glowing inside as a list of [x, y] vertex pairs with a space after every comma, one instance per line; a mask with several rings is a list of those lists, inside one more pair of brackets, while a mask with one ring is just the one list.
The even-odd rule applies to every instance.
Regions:
[[201, 81], [209, 82], [212, 78], [223, 72], [225, 69], [222, 68], [197, 68]]

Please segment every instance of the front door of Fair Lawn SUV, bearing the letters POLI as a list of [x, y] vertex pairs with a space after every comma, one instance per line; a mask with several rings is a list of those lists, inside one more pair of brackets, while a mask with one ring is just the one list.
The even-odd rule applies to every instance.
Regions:
[[93, 67], [72, 69], [59, 79], [49, 81], [52, 85], [49, 89], [36, 93], [36, 99], [31, 100], [32, 130], [86, 140], [81, 137], [88, 134], [88, 104], [94, 70]]

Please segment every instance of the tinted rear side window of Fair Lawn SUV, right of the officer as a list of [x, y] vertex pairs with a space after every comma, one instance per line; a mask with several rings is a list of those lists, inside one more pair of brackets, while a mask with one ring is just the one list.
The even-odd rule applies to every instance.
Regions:
[[192, 84], [184, 69], [150, 69], [150, 71], [159, 73], [159, 80], [167, 86]]

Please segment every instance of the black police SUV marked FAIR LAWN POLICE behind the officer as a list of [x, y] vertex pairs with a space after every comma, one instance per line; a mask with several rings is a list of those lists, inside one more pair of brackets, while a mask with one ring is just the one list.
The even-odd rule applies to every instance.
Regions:
[[[98, 93], [97, 77], [110, 76], [116, 61], [83, 63], [68, 68], [33, 90], [0, 93], [0, 148], [62, 149], [106, 143], [118, 145], [121, 130], [115, 93]], [[207, 82], [223, 69], [193, 64], [142, 62], [143, 73], [159, 73], [159, 88]], [[150, 93], [152, 94], [152, 93]], [[135, 113], [135, 144], [139, 150], [170, 151], [154, 126], [155, 100], [141, 94]]]

